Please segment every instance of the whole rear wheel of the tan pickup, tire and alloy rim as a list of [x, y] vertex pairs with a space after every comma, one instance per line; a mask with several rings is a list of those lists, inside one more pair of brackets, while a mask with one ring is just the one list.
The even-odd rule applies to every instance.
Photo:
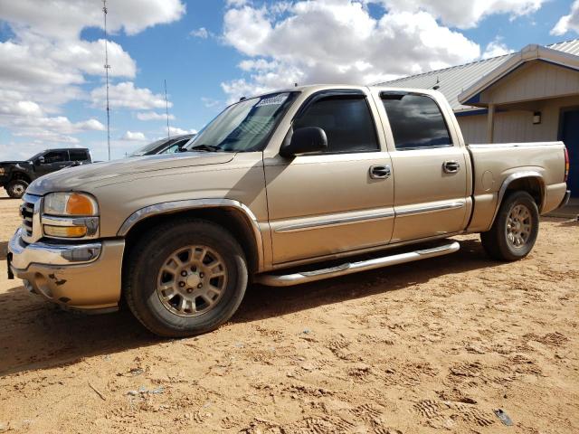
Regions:
[[490, 231], [480, 234], [482, 247], [493, 259], [513, 261], [525, 258], [535, 245], [539, 211], [527, 192], [508, 194], [500, 204]]

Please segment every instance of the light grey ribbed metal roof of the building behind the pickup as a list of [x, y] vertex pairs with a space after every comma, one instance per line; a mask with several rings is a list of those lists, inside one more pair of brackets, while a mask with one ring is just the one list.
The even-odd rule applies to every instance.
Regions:
[[[547, 48], [574, 54], [579, 56], [579, 39], [572, 41], [557, 42], [546, 45]], [[493, 57], [484, 61], [474, 61], [465, 65], [452, 66], [444, 70], [430, 71], [402, 79], [385, 81], [379, 83], [380, 86], [389, 86], [394, 88], [417, 88], [433, 89], [439, 86], [438, 90], [449, 100], [453, 110], [476, 109], [470, 106], [463, 106], [458, 100], [458, 96], [463, 90], [467, 90], [472, 84], [487, 75], [490, 71], [498, 68], [498, 65], [508, 61], [511, 57], [517, 55], [517, 52], [505, 54], [503, 56]]]

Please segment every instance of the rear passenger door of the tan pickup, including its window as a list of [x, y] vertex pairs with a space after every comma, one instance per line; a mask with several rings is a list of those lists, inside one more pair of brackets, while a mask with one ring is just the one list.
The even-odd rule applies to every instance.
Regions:
[[378, 95], [392, 137], [392, 242], [461, 231], [467, 219], [469, 160], [438, 102], [428, 94]]

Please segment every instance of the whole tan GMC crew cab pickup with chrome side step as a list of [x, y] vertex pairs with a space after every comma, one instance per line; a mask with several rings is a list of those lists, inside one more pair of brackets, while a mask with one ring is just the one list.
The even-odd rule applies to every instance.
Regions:
[[124, 298], [157, 335], [195, 335], [233, 316], [250, 281], [428, 259], [470, 232], [493, 259], [524, 258], [539, 215], [569, 197], [563, 143], [467, 146], [432, 90], [242, 99], [187, 151], [34, 181], [10, 273], [64, 307], [109, 311]]

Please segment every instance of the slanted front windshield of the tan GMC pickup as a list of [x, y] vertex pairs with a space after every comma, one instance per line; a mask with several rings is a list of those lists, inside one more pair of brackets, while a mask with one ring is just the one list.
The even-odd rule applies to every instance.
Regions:
[[233, 152], [261, 151], [295, 95], [296, 92], [273, 93], [235, 103], [224, 109], [185, 147], [187, 150], [199, 147]]

